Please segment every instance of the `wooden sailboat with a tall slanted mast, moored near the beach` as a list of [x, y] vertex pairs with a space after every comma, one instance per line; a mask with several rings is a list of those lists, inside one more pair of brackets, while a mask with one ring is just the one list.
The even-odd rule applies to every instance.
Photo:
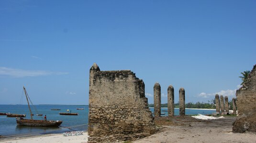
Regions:
[[[29, 104], [29, 101], [28, 101], [28, 99], [30, 100], [30, 98], [29, 98], [28, 93], [27, 93], [24, 86], [23, 86], [23, 90], [25, 92], [26, 99], [27, 99], [27, 102], [28, 102], [28, 108], [29, 108], [29, 111], [30, 111], [31, 119], [23, 119], [22, 117], [21, 118], [16, 118], [16, 122], [17, 122], [18, 125], [40, 126], [40, 127], [58, 127], [62, 123], [62, 121], [33, 120], [33, 113], [30, 109], [30, 104]], [[31, 100], [30, 100], [30, 102], [31, 102]]]

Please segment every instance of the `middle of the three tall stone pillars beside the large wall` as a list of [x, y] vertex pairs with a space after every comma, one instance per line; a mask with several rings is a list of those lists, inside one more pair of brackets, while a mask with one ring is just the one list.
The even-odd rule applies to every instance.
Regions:
[[171, 85], [167, 89], [168, 116], [174, 116], [174, 89]]

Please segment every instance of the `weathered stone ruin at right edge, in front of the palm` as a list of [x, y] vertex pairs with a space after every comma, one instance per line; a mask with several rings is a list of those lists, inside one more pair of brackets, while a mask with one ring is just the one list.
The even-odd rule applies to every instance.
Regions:
[[233, 123], [233, 132], [256, 133], [256, 65], [243, 86], [236, 91], [238, 117]]

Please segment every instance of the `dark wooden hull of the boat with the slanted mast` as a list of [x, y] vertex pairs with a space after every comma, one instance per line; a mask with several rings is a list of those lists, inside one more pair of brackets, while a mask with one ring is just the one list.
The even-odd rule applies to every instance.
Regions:
[[16, 119], [16, 122], [18, 125], [38, 127], [58, 127], [62, 123], [62, 121], [44, 121], [29, 119]]

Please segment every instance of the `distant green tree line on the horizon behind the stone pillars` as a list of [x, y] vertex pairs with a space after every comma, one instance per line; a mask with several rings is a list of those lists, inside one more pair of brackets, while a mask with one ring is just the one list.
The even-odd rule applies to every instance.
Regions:
[[[233, 110], [232, 101], [229, 101], [229, 109]], [[154, 104], [148, 104], [148, 107], [154, 107]], [[167, 103], [161, 104], [161, 107], [167, 108]], [[178, 108], [179, 103], [174, 103], [174, 108]], [[185, 105], [186, 108], [198, 108], [198, 109], [216, 109], [215, 105], [215, 99], [212, 99], [211, 101], [206, 102], [188, 102]]]

